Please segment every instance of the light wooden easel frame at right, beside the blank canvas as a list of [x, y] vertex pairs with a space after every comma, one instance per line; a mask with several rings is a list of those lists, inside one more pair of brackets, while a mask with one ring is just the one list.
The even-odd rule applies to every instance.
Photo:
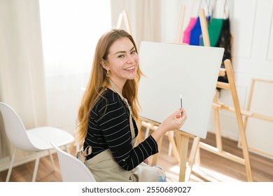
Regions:
[[[200, 10], [200, 22], [201, 22], [201, 27], [202, 27], [202, 36], [203, 36], [203, 40], [204, 40], [204, 45], [210, 46], [209, 32], [207, 29], [207, 20], [204, 15], [204, 10]], [[253, 181], [253, 176], [252, 176], [252, 172], [251, 172], [251, 163], [250, 163], [249, 154], [248, 154], [248, 146], [247, 146], [247, 142], [246, 142], [246, 135], [244, 132], [245, 131], [244, 130], [244, 123], [242, 120], [243, 115], [252, 116], [253, 113], [251, 113], [249, 111], [241, 111], [241, 108], [239, 105], [239, 99], [237, 96], [237, 90], [235, 87], [235, 80], [234, 80], [234, 75], [233, 75], [233, 71], [232, 71], [232, 64], [230, 62], [230, 59], [226, 59], [224, 64], [225, 64], [225, 71], [228, 76], [229, 83], [218, 82], [217, 87], [221, 88], [221, 89], [225, 89], [225, 90], [230, 90], [230, 92], [232, 94], [234, 108], [219, 103], [218, 102], [218, 90], [216, 90], [215, 97], [214, 97], [214, 103], [213, 103], [214, 123], [215, 123], [215, 127], [216, 127], [216, 148], [214, 146], [209, 146], [208, 144], [204, 144], [203, 142], [200, 141], [199, 137], [195, 137], [195, 139], [193, 141], [192, 150], [190, 152], [190, 158], [188, 160], [188, 173], [187, 173], [188, 176], [186, 179], [187, 181], [190, 179], [190, 174], [192, 172], [195, 159], [197, 159], [197, 162], [200, 162], [200, 148], [202, 148], [206, 151], [209, 151], [211, 153], [215, 153], [216, 155], [220, 155], [223, 158], [228, 158], [229, 160], [238, 162], [241, 165], [245, 165], [247, 180]], [[223, 69], [221, 71], [223, 71]], [[223, 73], [221, 73], [221, 74], [223, 74]], [[220, 130], [220, 120], [219, 120], [219, 111], [221, 109], [235, 112], [235, 115], [237, 118], [237, 123], [238, 123], [238, 128], [239, 128], [239, 134], [241, 137], [241, 148], [243, 151], [244, 158], [240, 158], [238, 156], [235, 156], [235, 155], [232, 155], [230, 153], [223, 151], [222, 140], [221, 140], [221, 130]]]

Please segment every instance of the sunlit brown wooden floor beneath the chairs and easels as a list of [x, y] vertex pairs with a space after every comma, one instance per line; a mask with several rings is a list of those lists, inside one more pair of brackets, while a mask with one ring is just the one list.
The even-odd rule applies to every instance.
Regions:
[[[202, 140], [205, 143], [215, 146], [214, 134], [208, 133], [207, 139]], [[190, 146], [192, 140], [190, 139]], [[167, 181], [179, 181], [179, 162], [173, 156], [168, 155], [169, 141], [167, 137], [163, 139], [162, 149], [158, 165], [165, 169], [167, 173]], [[237, 141], [223, 138], [223, 149], [234, 155], [242, 157], [241, 149], [237, 148]], [[190, 152], [189, 152], [190, 153]], [[188, 154], [189, 154], [188, 153]], [[54, 154], [56, 171], [53, 171], [50, 158], [44, 157], [40, 160], [36, 181], [39, 182], [54, 182], [62, 181], [62, 176], [59, 173], [59, 165], [57, 155]], [[201, 165], [199, 169], [194, 169], [190, 176], [191, 182], [197, 181], [247, 181], [246, 169], [243, 165], [237, 162], [221, 158], [214, 153], [200, 150]], [[258, 182], [273, 182], [273, 160], [269, 160], [259, 155], [250, 153], [251, 167], [254, 181]], [[34, 169], [34, 161], [25, 165], [20, 165], [13, 168], [10, 176], [10, 181], [25, 182], [31, 181]], [[72, 169], [72, 168], [71, 168]], [[0, 172], [0, 181], [6, 181], [8, 171]]]

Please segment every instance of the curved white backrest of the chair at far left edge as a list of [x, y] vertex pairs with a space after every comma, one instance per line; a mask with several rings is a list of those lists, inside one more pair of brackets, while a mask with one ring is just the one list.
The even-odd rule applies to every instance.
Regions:
[[0, 102], [0, 113], [3, 118], [6, 135], [11, 144], [22, 151], [36, 151], [37, 149], [27, 137], [25, 125], [22, 123], [18, 113], [3, 102]]

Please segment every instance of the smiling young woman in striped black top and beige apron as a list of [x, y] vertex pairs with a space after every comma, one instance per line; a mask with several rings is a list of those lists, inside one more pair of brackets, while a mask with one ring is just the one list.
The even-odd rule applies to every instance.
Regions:
[[144, 160], [158, 153], [158, 141], [166, 132], [181, 128], [186, 111], [174, 111], [135, 146], [141, 76], [132, 36], [122, 29], [104, 34], [97, 43], [90, 80], [78, 111], [77, 132], [83, 149], [90, 152], [85, 163], [97, 181], [166, 181], [160, 167], [148, 166]]

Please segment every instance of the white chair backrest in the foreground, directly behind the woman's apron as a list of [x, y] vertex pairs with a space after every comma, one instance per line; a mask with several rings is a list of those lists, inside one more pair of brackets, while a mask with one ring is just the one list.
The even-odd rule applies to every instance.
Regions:
[[51, 141], [51, 145], [57, 151], [59, 159], [59, 168], [64, 182], [95, 182], [94, 176], [90, 170], [76, 157], [62, 151], [61, 148]]

